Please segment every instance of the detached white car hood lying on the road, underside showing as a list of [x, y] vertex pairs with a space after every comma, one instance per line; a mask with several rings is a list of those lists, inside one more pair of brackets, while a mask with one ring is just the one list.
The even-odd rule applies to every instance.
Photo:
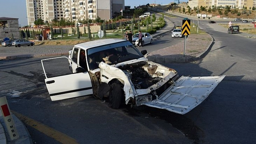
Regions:
[[185, 114], [201, 104], [225, 77], [180, 77], [158, 99], [144, 105]]

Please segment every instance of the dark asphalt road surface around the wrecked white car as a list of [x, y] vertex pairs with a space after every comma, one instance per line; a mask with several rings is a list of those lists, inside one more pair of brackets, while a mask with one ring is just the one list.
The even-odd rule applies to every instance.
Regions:
[[[208, 99], [185, 115], [149, 107], [110, 109], [93, 97], [50, 100], [42, 58], [0, 61], [1, 93], [10, 109], [31, 118], [26, 123], [35, 143], [255, 143], [255, 39], [219, 31], [202, 23], [214, 38], [202, 60], [165, 64], [179, 75], [226, 75]], [[154, 50], [179, 39], [166, 34]], [[65, 69], [67, 64], [59, 66]]]

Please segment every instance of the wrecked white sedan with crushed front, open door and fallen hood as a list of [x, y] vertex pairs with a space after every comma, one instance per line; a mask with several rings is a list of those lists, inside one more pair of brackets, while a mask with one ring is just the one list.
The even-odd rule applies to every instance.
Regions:
[[[146, 53], [127, 40], [101, 39], [74, 45], [69, 58], [41, 60], [51, 100], [93, 95], [115, 109], [125, 103], [185, 114], [204, 101], [225, 77], [179, 78], [176, 70], [145, 58]], [[61, 59], [69, 62], [69, 74], [56, 64], [65, 64]]]

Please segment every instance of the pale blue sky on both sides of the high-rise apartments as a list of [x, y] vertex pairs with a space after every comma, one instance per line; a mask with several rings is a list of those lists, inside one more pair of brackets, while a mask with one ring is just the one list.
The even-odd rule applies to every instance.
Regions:
[[[0, 4], [0, 17], [18, 18], [19, 25], [27, 25], [26, 0], [0, 0], [4, 4]], [[125, 6], [140, 6], [146, 4], [168, 4], [174, 0], [124, 0]]]

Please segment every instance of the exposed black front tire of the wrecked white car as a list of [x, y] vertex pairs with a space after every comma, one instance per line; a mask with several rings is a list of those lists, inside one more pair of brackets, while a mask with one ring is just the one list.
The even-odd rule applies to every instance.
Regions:
[[112, 83], [110, 85], [110, 92], [108, 95], [108, 98], [109, 98], [108, 106], [113, 109], [118, 109], [121, 106], [122, 96], [123, 96], [123, 92], [122, 92], [121, 85], [118, 83]]

